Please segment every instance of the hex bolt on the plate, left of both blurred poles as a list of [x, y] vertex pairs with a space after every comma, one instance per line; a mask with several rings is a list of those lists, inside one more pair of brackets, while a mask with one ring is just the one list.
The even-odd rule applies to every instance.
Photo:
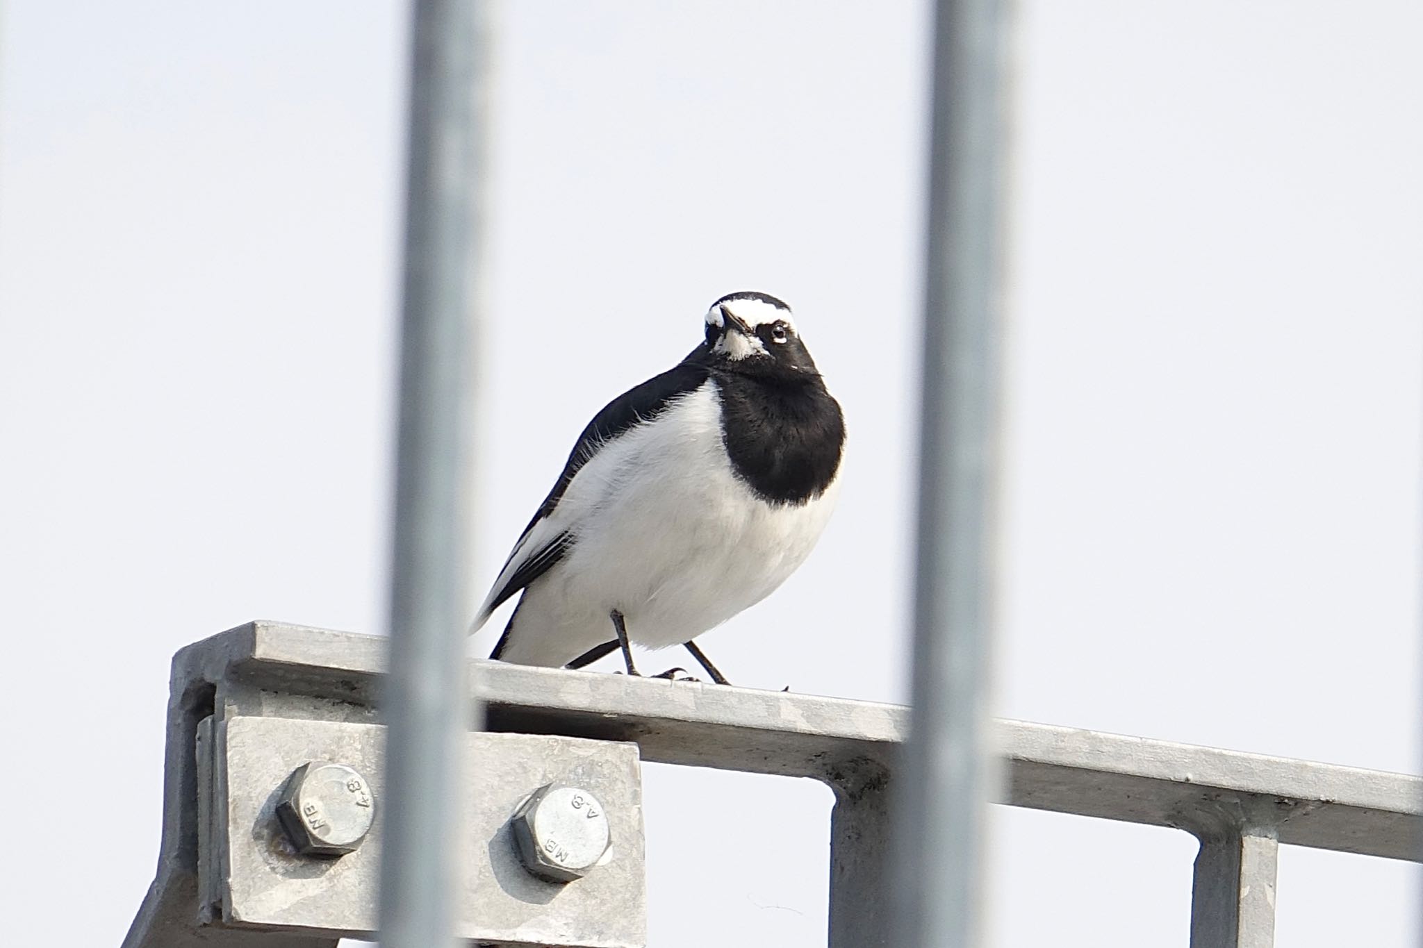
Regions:
[[286, 779], [276, 816], [302, 856], [346, 856], [370, 831], [376, 795], [356, 767], [309, 760]]

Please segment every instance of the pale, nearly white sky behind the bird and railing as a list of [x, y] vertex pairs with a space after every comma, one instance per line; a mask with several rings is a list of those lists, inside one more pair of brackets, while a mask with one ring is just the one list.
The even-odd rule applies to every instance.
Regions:
[[[407, 14], [3, 17], [0, 914], [17, 945], [117, 944], [172, 652], [256, 617], [384, 628]], [[472, 597], [591, 414], [760, 289], [845, 406], [845, 489], [707, 651], [904, 698], [926, 27], [504, 7]], [[1423, 7], [1037, 0], [1017, 27], [998, 713], [1416, 772]], [[655, 948], [824, 944], [825, 789], [647, 767], [646, 797]], [[1184, 833], [993, 817], [992, 944], [1187, 944]], [[1278, 942], [1412, 944], [1416, 883], [1285, 847]]]

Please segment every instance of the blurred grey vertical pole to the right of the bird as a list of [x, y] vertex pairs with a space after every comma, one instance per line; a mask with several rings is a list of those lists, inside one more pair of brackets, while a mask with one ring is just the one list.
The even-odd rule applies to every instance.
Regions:
[[989, 675], [999, 385], [1003, 4], [939, 0], [924, 334], [914, 716], [891, 944], [979, 941], [996, 796]]

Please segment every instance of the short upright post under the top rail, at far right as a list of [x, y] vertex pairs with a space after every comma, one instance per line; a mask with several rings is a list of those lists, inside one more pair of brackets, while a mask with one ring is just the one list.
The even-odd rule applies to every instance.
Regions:
[[1191, 948], [1271, 948], [1278, 861], [1274, 830], [1204, 836], [1191, 887]]

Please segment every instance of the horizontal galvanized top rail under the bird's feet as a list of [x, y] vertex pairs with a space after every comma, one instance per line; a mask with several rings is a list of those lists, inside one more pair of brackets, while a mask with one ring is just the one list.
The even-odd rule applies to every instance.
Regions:
[[[377, 637], [250, 623], [189, 647], [273, 689], [369, 704]], [[222, 652], [225, 658], [216, 658]], [[491, 731], [636, 740], [645, 760], [881, 786], [904, 739], [898, 705], [487, 662]], [[1423, 777], [999, 721], [1002, 800], [1201, 833], [1274, 826], [1281, 843], [1423, 861]]]

